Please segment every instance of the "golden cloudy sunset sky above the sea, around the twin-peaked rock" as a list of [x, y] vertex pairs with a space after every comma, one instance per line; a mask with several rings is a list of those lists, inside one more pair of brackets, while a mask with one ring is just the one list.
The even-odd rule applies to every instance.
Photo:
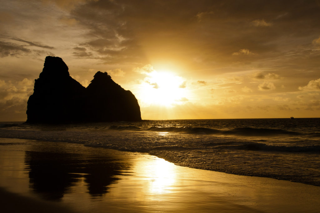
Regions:
[[0, 121], [26, 120], [47, 55], [142, 119], [320, 117], [319, 0], [0, 0], [0, 21]]

